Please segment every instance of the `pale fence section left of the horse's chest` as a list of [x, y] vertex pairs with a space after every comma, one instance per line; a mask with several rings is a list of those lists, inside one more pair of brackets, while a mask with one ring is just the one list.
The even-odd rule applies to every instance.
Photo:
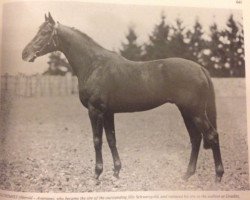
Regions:
[[77, 93], [77, 78], [72, 75], [1, 75], [1, 94], [18, 97], [35, 97], [63, 96]]

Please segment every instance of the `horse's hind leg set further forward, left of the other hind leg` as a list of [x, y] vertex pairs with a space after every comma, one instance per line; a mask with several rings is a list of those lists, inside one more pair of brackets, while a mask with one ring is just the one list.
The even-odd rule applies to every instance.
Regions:
[[192, 176], [195, 173], [196, 170], [196, 164], [201, 144], [201, 132], [196, 128], [192, 116], [188, 112], [185, 112], [184, 110], [180, 109], [180, 111], [184, 119], [187, 131], [189, 133], [192, 145], [187, 172], [183, 176], [183, 179], [187, 180], [190, 176]]

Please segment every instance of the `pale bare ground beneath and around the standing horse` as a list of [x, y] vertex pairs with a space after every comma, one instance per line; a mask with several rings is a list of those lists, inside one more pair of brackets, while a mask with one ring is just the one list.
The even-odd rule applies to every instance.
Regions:
[[[197, 173], [181, 179], [189, 156], [188, 133], [177, 108], [116, 115], [120, 179], [106, 140], [104, 171], [93, 180], [94, 148], [87, 110], [77, 96], [7, 101], [1, 121], [0, 189], [33, 192], [135, 190], [248, 190], [244, 79], [214, 79], [225, 174], [214, 183], [212, 152], [201, 149]], [[5, 108], [5, 109], [4, 109]]]

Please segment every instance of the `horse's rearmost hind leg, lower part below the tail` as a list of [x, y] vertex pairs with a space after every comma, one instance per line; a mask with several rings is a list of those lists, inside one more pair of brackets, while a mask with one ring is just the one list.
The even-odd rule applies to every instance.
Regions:
[[205, 113], [195, 116], [193, 120], [196, 127], [203, 133], [203, 139], [206, 141], [206, 144], [212, 148], [216, 172], [215, 181], [220, 182], [224, 173], [224, 168], [220, 153], [219, 135], [209, 122]]

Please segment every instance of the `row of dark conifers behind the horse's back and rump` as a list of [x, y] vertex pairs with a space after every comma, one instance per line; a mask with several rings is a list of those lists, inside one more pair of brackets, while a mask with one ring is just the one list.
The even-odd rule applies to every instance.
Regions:
[[191, 29], [187, 29], [180, 18], [170, 25], [162, 15], [149, 41], [143, 45], [137, 43], [135, 30], [129, 27], [120, 54], [134, 61], [181, 57], [200, 63], [214, 77], [244, 77], [242, 24], [230, 15], [226, 28], [219, 29], [214, 22], [209, 30], [209, 35], [206, 35], [198, 19]]

